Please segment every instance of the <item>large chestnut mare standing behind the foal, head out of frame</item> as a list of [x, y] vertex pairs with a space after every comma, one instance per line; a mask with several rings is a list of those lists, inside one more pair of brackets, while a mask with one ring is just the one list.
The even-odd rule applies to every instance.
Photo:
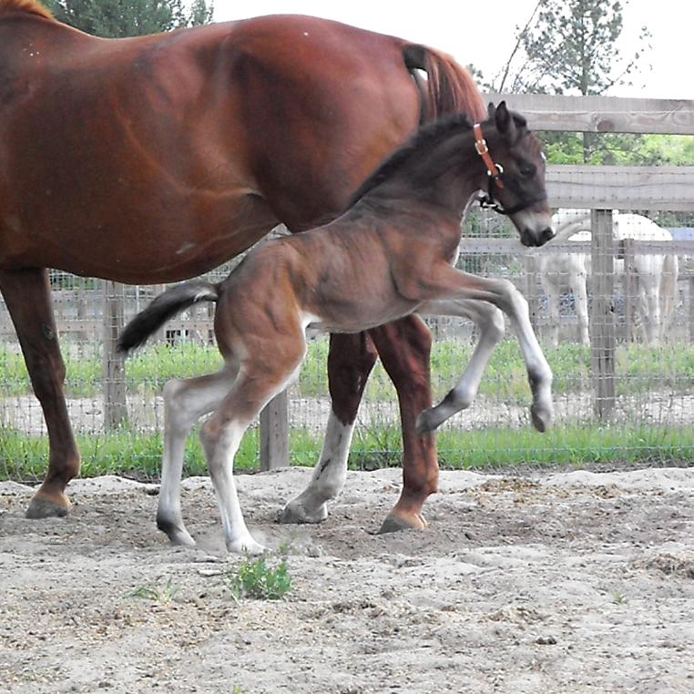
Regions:
[[[34, 0], [0, 0], [0, 290], [50, 441], [27, 515], [64, 515], [79, 471], [46, 268], [133, 283], [199, 275], [279, 222], [332, 219], [420, 122], [457, 111], [485, 117], [450, 57], [351, 26], [273, 16], [106, 40]], [[434, 441], [415, 430], [431, 405], [429, 348], [413, 315], [331, 340], [319, 464], [346, 460], [378, 351], [403, 422], [396, 526], [421, 526], [436, 487]]]

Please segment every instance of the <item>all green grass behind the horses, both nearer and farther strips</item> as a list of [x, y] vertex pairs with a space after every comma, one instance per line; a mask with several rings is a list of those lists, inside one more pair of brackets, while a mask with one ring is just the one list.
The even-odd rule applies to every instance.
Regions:
[[[328, 341], [311, 342], [301, 372], [302, 397], [325, 396], [328, 392], [326, 360]], [[434, 344], [432, 373], [434, 390], [440, 397], [458, 380], [472, 347], [453, 340]], [[557, 397], [581, 393], [590, 387], [590, 352], [581, 345], [566, 343], [547, 350], [555, 373]], [[617, 394], [638, 395], [653, 390], [687, 393], [694, 386], [694, 345], [662, 347], [622, 345], [617, 351]], [[187, 377], [219, 368], [215, 347], [183, 343], [175, 347], [155, 345], [128, 360], [128, 383], [132, 392], [160, 393], [173, 376]], [[99, 389], [101, 364], [97, 355], [86, 352], [67, 360], [68, 396], [94, 396]], [[367, 386], [367, 397], [394, 401], [393, 386], [377, 365]], [[0, 396], [26, 394], [28, 379], [21, 355], [0, 349]], [[526, 371], [515, 340], [502, 342], [492, 358], [480, 393], [502, 403], [528, 403]], [[251, 429], [236, 456], [239, 472], [258, 469], [259, 434]], [[78, 437], [82, 452], [82, 475], [129, 475], [157, 479], [161, 460], [161, 434], [143, 434], [128, 428], [115, 433]], [[321, 451], [322, 434], [291, 430], [293, 464], [314, 464]], [[451, 468], [484, 468], [526, 464], [651, 464], [694, 463], [694, 431], [691, 427], [569, 424], [547, 434], [530, 429], [486, 428], [461, 432], [444, 430], [438, 435], [439, 460]], [[0, 478], [39, 480], [46, 472], [46, 437], [32, 437], [0, 424]], [[370, 470], [402, 461], [400, 424], [357, 427], [350, 465]], [[207, 475], [207, 464], [196, 435], [189, 437], [186, 475]]]

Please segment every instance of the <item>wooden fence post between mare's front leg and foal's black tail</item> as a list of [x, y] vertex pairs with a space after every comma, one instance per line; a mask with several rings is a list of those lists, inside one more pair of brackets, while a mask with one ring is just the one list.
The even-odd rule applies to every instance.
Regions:
[[126, 405], [125, 358], [116, 352], [118, 333], [125, 325], [125, 287], [110, 280], [104, 281], [104, 426], [107, 431], [128, 421]]

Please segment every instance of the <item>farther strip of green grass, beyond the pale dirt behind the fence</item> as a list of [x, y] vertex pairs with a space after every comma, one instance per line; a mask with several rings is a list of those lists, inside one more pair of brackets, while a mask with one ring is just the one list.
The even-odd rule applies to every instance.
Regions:
[[[446, 393], [460, 378], [472, 355], [472, 345], [454, 340], [434, 343], [431, 368], [434, 388]], [[324, 396], [328, 393], [327, 339], [311, 342], [301, 370], [301, 397]], [[590, 350], [575, 343], [561, 344], [556, 350], [546, 349], [547, 361], [555, 374], [556, 395], [579, 393], [590, 387]], [[217, 371], [221, 365], [214, 346], [192, 342], [174, 347], [157, 344], [136, 352], [128, 359], [126, 373], [131, 392], [160, 393], [170, 378], [188, 378]], [[94, 397], [100, 393], [101, 361], [96, 353], [66, 358], [68, 397]], [[617, 349], [617, 394], [641, 393], [655, 387], [684, 393], [694, 386], [694, 345], [678, 344], [662, 347], [621, 345]], [[20, 354], [0, 349], [0, 394], [30, 393], [24, 360]], [[526, 368], [514, 339], [501, 342], [487, 367], [480, 387], [482, 395], [505, 402], [526, 397]], [[377, 364], [366, 387], [366, 397], [389, 400], [393, 386], [381, 364]]]

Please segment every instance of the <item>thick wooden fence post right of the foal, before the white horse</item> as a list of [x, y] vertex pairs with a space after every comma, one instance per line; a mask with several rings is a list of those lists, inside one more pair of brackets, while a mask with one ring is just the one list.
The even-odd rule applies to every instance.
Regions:
[[607, 419], [615, 406], [615, 242], [612, 210], [590, 213], [593, 304], [590, 311], [590, 352], [593, 374], [593, 411]]

